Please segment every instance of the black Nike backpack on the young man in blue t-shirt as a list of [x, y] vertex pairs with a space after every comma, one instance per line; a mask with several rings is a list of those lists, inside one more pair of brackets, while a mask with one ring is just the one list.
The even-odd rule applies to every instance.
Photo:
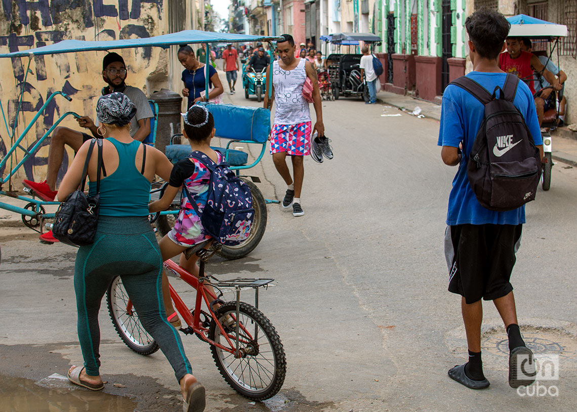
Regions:
[[534, 200], [541, 179], [541, 157], [523, 115], [513, 104], [519, 78], [507, 74], [503, 88], [497, 86], [492, 95], [469, 77], [450, 84], [485, 106], [485, 118], [467, 159], [469, 183], [481, 206], [507, 211]]

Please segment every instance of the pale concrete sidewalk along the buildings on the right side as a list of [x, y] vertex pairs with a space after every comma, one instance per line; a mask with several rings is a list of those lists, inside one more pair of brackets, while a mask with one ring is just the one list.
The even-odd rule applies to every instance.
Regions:
[[[434, 119], [437, 122], [441, 119], [441, 105], [430, 101], [383, 91], [377, 93], [377, 99], [382, 101], [385, 106], [391, 106], [391, 108], [384, 108], [383, 115], [394, 115], [395, 109], [412, 113], [415, 108], [420, 108], [420, 114], [424, 115], [425, 118]], [[577, 167], [577, 133], [570, 131], [567, 127], [559, 127], [551, 135], [553, 137], [553, 159]]]

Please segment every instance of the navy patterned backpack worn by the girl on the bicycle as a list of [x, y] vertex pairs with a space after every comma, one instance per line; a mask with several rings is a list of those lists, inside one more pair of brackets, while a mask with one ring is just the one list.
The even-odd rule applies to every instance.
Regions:
[[228, 168], [226, 162], [216, 164], [206, 154], [197, 151], [190, 157], [203, 163], [211, 172], [207, 204], [202, 212], [186, 185], [183, 186], [205, 233], [223, 245], [238, 245], [249, 237], [254, 220], [250, 188]]

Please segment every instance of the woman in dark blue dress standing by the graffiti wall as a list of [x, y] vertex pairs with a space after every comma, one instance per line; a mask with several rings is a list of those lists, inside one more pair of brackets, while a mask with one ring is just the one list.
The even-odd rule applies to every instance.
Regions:
[[215, 99], [216, 97], [222, 95], [224, 88], [216, 73], [216, 69], [212, 66], [208, 66], [209, 80], [208, 86], [211, 89], [208, 93], [208, 99], [204, 89], [206, 86], [205, 72], [206, 68], [204, 63], [199, 62], [194, 52], [190, 46], [182, 44], [178, 49], [178, 61], [184, 66], [182, 71], [182, 81], [184, 82], [184, 88], [182, 89], [182, 96], [188, 97], [187, 108], [190, 108], [197, 101], [208, 101], [209, 99]]

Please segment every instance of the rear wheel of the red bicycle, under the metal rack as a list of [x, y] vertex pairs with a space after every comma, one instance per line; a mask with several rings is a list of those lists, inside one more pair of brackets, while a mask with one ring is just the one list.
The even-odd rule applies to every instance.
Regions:
[[[237, 303], [227, 302], [216, 311], [216, 316], [222, 323], [227, 315], [236, 317], [236, 311]], [[238, 334], [240, 356], [237, 358], [234, 352], [211, 346], [212, 357], [220, 375], [239, 394], [253, 400], [271, 398], [282, 387], [286, 375], [286, 358], [279, 335], [267, 317], [248, 303], [240, 303], [238, 321], [241, 323]], [[236, 329], [230, 329], [228, 338], [236, 349]], [[213, 319], [208, 338], [228, 347]]]

